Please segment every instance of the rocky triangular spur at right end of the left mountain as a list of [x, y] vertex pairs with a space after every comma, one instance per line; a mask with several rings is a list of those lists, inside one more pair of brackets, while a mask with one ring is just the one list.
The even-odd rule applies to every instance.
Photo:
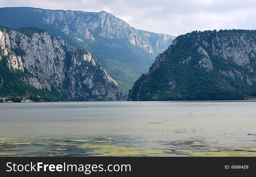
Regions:
[[68, 94], [72, 98], [86, 101], [116, 101], [125, 98], [121, 91], [117, 92], [118, 84], [116, 81], [106, 73], [97, 59], [86, 50], [79, 48], [72, 50], [71, 65], [67, 73]]

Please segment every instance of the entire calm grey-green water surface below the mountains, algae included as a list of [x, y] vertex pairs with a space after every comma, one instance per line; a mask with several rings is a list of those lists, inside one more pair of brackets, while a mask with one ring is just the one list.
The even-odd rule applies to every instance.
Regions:
[[0, 156], [256, 156], [256, 102], [0, 104]]

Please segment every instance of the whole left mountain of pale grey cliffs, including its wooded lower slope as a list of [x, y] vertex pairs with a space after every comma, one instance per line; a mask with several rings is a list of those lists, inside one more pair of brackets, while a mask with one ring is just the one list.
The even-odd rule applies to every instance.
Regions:
[[0, 96], [115, 101], [125, 94], [87, 50], [38, 28], [0, 28]]

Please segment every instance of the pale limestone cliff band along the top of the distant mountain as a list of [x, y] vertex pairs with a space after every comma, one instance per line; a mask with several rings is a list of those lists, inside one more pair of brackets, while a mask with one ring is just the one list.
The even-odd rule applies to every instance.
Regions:
[[66, 34], [74, 32], [83, 39], [95, 40], [100, 36], [109, 39], [125, 39], [145, 48], [149, 53], [162, 52], [175, 37], [166, 34], [137, 30], [114, 15], [101, 11], [82, 12], [72, 10], [45, 10], [30, 8], [43, 15], [43, 22], [55, 25]]

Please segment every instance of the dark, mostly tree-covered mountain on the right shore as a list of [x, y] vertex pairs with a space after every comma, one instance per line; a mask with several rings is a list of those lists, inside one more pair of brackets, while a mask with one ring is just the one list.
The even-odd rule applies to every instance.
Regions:
[[134, 83], [129, 101], [237, 100], [256, 96], [256, 31], [178, 36]]

